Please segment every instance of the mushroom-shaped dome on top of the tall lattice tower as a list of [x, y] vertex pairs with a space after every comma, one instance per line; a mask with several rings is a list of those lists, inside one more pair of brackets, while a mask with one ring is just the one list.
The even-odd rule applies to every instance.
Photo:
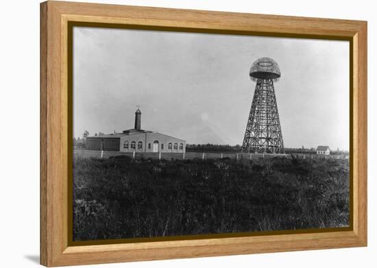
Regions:
[[271, 79], [278, 81], [280, 77], [280, 69], [278, 63], [271, 58], [258, 58], [250, 68], [250, 78], [253, 81], [258, 79]]

